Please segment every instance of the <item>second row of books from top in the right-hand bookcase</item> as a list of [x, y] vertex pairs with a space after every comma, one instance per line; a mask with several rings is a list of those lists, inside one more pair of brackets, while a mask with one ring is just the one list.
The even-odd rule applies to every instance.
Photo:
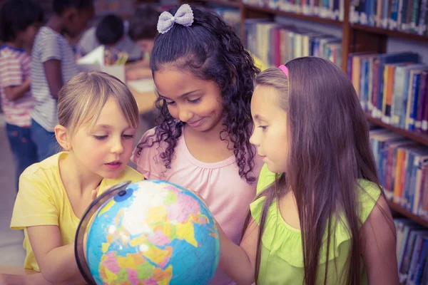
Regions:
[[405, 130], [428, 131], [428, 66], [419, 55], [350, 53], [348, 76], [365, 111]]

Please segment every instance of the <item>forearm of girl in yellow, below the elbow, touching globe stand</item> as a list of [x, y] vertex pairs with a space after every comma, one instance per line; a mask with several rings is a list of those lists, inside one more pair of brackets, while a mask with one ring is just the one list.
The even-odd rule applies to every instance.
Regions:
[[85, 284], [74, 257], [74, 244], [52, 249], [46, 254], [41, 271], [44, 279], [52, 284]]

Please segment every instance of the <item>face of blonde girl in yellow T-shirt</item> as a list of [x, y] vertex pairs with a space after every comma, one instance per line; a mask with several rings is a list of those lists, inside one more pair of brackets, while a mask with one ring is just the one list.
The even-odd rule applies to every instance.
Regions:
[[81, 169], [104, 178], [116, 178], [128, 164], [136, 129], [132, 128], [118, 103], [109, 98], [95, 125], [83, 124], [71, 136], [70, 153]]

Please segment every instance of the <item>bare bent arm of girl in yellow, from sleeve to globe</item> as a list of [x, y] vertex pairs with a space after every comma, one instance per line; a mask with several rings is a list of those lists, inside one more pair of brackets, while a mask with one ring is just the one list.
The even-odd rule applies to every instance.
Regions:
[[52, 284], [85, 284], [74, 257], [74, 243], [63, 246], [57, 226], [27, 227], [27, 232], [46, 281]]

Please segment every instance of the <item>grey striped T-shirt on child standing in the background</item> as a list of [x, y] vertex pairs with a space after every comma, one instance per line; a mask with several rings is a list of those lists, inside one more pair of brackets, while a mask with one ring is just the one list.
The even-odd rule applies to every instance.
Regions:
[[31, 117], [45, 130], [54, 132], [58, 124], [58, 101], [51, 95], [44, 71], [44, 63], [51, 59], [61, 61], [63, 84], [78, 73], [73, 49], [66, 38], [44, 26], [34, 39], [31, 54], [31, 91], [36, 99]]

